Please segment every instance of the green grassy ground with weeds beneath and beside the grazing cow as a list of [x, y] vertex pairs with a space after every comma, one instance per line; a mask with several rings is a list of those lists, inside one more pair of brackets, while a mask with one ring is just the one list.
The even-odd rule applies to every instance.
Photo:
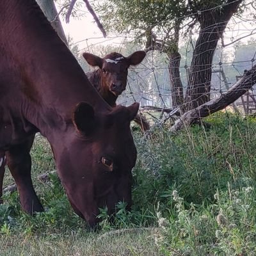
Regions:
[[[45, 212], [20, 211], [17, 193], [0, 205], [0, 255], [256, 255], [256, 120], [214, 115], [170, 135], [168, 124], [149, 137], [134, 132], [132, 210], [117, 205], [115, 220], [100, 213], [90, 232], [74, 214], [54, 170], [51, 149], [38, 136], [33, 180]], [[9, 173], [5, 186], [12, 184]], [[116, 233], [115, 230], [121, 230]]]

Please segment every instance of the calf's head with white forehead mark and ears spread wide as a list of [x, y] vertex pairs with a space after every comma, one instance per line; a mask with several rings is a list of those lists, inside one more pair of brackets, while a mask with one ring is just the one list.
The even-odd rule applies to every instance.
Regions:
[[111, 52], [104, 58], [84, 52], [83, 57], [92, 67], [99, 67], [101, 70], [101, 83], [109, 92], [116, 97], [126, 88], [128, 68], [141, 63], [145, 58], [145, 51], [133, 52], [130, 56], [124, 57], [118, 52]]

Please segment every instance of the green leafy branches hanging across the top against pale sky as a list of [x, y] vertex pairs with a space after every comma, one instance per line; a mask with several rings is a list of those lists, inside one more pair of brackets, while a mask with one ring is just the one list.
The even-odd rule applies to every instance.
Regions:
[[[223, 6], [227, 3], [232, 1], [106, 0], [93, 3], [93, 9], [109, 32], [132, 33], [145, 42], [148, 39], [147, 32], [152, 30], [157, 38], [164, 40], [167, 47], [170, 47], [177, 24], [196, 20], [200, 17], [200, 12], [205, 10], [211, 10], [211, 13], [218, 15], [223, 12]], [[244, 8], [245, 6], [240, 8], [239, 13]], [[191, 23], [184, 26], [184, 31], [189, 29]]]

